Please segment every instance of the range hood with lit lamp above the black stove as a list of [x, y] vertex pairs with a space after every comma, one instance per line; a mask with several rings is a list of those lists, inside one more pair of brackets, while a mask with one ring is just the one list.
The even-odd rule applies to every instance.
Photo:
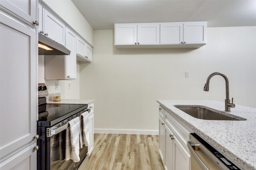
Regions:
[[70, 55], [70, 51], [52, 39], [38, 33], [38, 55]]

